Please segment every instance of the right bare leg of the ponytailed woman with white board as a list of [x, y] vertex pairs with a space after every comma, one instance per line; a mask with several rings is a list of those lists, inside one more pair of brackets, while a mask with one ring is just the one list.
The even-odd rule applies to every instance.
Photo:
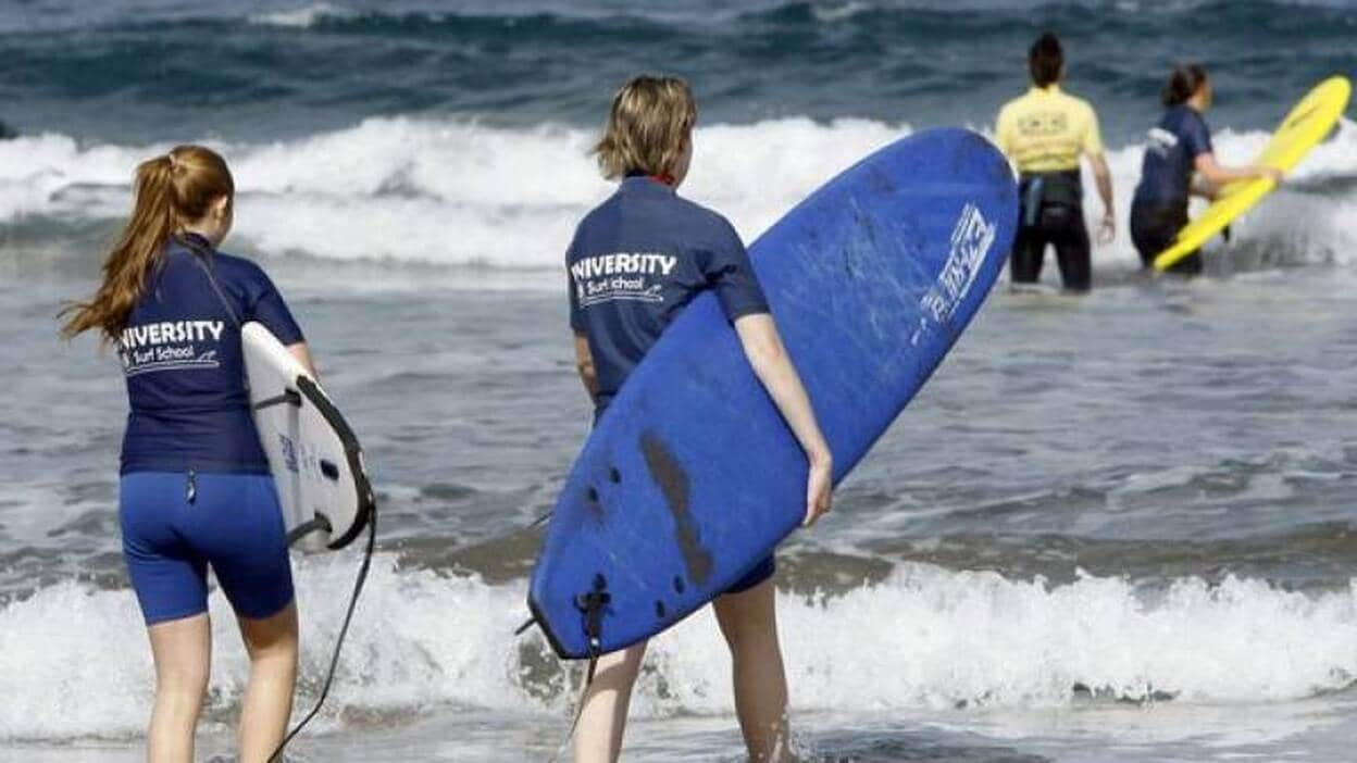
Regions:
[[297, 606], [262, 620], [239, 618], [250, 653], [250, 686], [240, 709], [240, 763], [266, 763], [288, 732], [297, 684]]

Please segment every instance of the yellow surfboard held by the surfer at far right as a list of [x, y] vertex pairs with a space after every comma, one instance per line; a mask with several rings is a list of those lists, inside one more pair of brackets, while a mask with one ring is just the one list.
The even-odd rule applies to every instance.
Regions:
[[[1350, 94], [1352, 83], [1348, 81], [1348, 77], [1329, 77], [1319, 83], [1315, 90], [1300, 99], [1291, 114], [1286, 114], [1262, 153], [1254, 159], [1254, 164], [1276, 167], [1284, 172], [1289, 171], [1310, 153], [1311, 148], [1324, 140], [1329, 130], [1338, 122], [1343, 109], [1348, 107]], [[1155, 257], [1155, 270], [1167, 270], [1179, 259], [1201, 248], [1212, 236], [1224, 231], [1225, 225], [1235, 217], [1253, 209], [1274, 186], [1276, 183], [1269, 179], [1253, 179], [1234, 182], [1223, 187], [1220, 197], [1201, 216], [1178, 231], [1174, 246]]]

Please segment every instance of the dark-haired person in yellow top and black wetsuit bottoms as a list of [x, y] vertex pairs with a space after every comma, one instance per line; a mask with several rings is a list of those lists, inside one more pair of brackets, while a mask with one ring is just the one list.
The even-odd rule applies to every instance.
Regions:
[[1103, 202], [1099, 243], [1111, 242], [1117, 229], [1098, 114], [1088, 102], [1060, 90], [1065, 58], [1054, 34], [1048, 31], [1037, 38], [1027, 53], [1027, 69], [1033, 88], [1006, 103], [995, 126], [995, 141], [1018, 167], [1019, 176], [1022, 209], [1010, 276], [1014, 284], [1039, 281], [1046, 246], [1053, 244], [1065, 289], [1087, 292], [1092, 286], [1092, 265], [1080, 156], [1092, 164]]

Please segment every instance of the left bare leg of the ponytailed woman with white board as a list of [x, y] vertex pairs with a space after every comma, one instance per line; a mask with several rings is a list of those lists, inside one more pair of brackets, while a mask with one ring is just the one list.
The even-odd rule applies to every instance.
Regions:
[[147, 732], [149, 763], [189, 763], [212, 664], [212, 626], [206, 612], [156, 623], [151, 654], [156, 663], [156, 705]]

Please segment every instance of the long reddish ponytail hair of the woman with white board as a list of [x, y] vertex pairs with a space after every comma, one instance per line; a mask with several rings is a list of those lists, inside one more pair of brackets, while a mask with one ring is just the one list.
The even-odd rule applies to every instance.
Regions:
[[201, 145], [178, 145], [138, 164], [132, 219], [103, 262], [103, 282], [90, 301], [71, 303], [61, 311], [58, 318], [69, 315], [61, 335], [99, 329], [104, 341], [115, 341], [170, 236], [206, 216], [221, 197], [229, 208], [235, 193], [227, 162]]

